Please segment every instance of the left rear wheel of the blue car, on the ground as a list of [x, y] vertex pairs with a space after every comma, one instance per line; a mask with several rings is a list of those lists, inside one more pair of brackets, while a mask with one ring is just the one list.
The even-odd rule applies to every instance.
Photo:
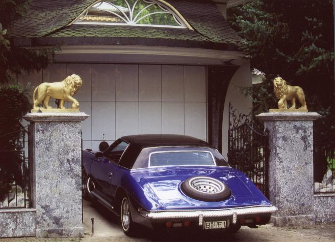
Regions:
[[123, 197], [120, 206], [120, 219], [123, 232], [130, 237], [136, 235], [136, 223], [132, 220], [130, 201], [127, 197]]

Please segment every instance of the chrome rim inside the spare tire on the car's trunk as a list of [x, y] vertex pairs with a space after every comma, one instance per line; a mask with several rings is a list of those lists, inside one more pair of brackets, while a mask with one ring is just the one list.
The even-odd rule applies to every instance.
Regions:
[[224, 185], [220, 180], [211, 177], [194, 177], [189, 180], [190, 187], [201, 193], [216, 194], [224, 191]]

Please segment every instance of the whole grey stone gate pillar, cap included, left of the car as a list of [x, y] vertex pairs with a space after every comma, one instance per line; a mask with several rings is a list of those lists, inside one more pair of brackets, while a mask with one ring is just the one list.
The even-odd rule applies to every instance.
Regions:
[[80, 237], [82, 225], [81, 122], [83, 112], [28, 113], [32, 125], [37, 237]]

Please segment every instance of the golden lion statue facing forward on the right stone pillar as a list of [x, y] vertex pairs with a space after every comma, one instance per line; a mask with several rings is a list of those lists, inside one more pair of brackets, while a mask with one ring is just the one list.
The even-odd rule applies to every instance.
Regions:
[[296, 109], [296, 99], [299, 100], [301, 107], [299, 109], [306, 110], [307, 105], [305, 101], [305, 95], [300, 86], [290, 86], [286, 84], [286, 81], [281, 77], [276, 77], [273, 80], [273, 89], [276, 98], [279, 98], [278, 108], [287, 109], [287, 101], [291, 100], [290, 109]]

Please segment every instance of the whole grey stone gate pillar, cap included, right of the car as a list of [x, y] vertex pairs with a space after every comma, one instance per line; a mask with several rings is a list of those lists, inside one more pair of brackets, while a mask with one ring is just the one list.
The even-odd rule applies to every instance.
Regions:
[[278, 210], [275, 226], [315, 224], [313, 208], [314, 112], [270, 112], [257, 117], [268, 129], [270, 143], [269, 199]]

